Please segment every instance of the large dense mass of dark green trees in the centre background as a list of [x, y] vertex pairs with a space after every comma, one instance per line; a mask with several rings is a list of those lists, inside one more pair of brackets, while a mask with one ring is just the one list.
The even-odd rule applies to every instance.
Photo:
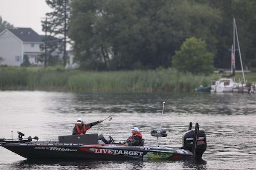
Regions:
[[169, 67], [187, 37], [202, 38], [215, 51], [220, 20], [218, 10], [187, 0], [73, 0], [69, 35], [82, 62]]

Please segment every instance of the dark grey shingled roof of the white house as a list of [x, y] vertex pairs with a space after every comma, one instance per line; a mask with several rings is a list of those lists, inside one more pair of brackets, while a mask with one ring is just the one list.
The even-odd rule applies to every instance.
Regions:
[[17, 36], [23, 42], [41, 42], [41, 36], [36, 33], [32, 28], [14, 28], [8, 29], [15, 36]]

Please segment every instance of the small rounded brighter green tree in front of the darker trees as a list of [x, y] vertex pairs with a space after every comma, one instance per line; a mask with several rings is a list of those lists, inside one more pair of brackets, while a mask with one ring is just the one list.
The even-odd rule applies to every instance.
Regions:
[[191, 37], [183, 42], [180, 51], [175, 51], [172, 65], [183, 72], [209, 74], [214, 70], [213, 57], [214, 54], [207, 51], [204, 41]]

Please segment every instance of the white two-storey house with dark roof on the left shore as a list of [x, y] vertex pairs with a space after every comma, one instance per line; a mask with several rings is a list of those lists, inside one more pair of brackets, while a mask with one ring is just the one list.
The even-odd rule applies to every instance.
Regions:
[[0, 33], [0, 65], [20, 66], [24, 55], [29, 57], [31, 64], [37, 64], [37, 56], [43, 51], [41, 36], [31, 28], [5, 29]]

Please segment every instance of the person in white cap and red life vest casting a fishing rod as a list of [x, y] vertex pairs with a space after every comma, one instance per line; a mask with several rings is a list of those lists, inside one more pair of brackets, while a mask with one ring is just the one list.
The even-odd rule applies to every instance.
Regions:
[[75, 123], [76, 126], [73, 129], [72, 135], [85, 134], [86, 130], [90, 129], [91, 127], [93, 127], [94, 125], [97, 125], [100, 122], [103, 122], [103, 120], [98, 120], [97, 122], [92, 122], [92, 123], [85, 124], [83, 122], [82, 118], [78, 118], [76, 123]]

